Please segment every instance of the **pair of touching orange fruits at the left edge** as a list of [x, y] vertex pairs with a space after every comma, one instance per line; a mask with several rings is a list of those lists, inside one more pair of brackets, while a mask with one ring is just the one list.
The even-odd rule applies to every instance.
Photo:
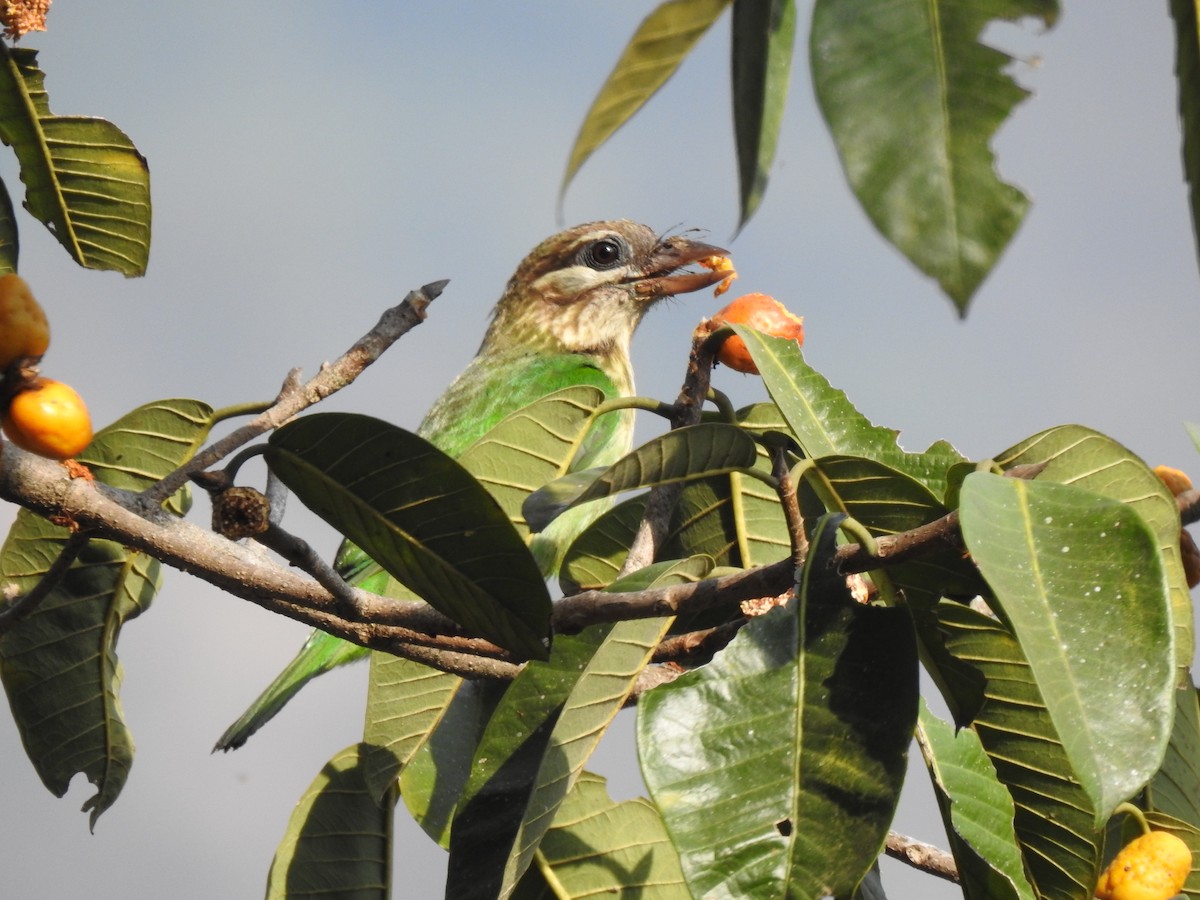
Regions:
[[91, 443], [88, 407], [71, 385], [42, 378], [50, 324], [24, 278], [0, 277], [0, 409], [4, 433], [22, 450], [68, 460]]

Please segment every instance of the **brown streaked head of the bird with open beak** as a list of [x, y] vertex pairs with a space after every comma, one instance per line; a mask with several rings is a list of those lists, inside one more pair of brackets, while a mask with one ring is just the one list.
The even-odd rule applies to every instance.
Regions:
[[539, 244], [496, 305], [484, 349], [624, 358], [637, 323], [664, 296], [698, 290], [724, 275], [680, 271], [726, 251], [637, 222], [589, 222]]

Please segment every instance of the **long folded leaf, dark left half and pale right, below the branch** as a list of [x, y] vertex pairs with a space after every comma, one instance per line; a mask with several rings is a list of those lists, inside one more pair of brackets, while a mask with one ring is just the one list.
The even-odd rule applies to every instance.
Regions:
[[[696, 581], [710, 568], [709, 559], [656, 564], [610, 589]], [[448, 895], [512, 890], [670, 624], [655, 618], [593, 625], [560, 635], [548, 661], [526, 665], [475, 749], [450, 834]]]

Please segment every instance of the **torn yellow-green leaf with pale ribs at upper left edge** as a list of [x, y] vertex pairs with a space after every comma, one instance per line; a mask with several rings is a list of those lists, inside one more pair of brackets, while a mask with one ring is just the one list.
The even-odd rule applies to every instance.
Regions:
[[20, 162], [25, 209], [88, 269], [144, 275], [150, 169], [112, 122], [50, 113], [37, 53], [0, 48], [0, 139]]

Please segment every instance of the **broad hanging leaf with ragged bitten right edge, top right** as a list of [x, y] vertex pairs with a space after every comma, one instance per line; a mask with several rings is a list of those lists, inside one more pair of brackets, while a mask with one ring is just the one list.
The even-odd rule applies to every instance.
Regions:
[[979, 42], [995, 20], [1057, 17], [1055, 0], [817, 0], [812, 83], [851, 190], [883, 236], [960, 313], [1028, 199], [996, 175], [996, 130], [1025, 98], [1012, 58]]

